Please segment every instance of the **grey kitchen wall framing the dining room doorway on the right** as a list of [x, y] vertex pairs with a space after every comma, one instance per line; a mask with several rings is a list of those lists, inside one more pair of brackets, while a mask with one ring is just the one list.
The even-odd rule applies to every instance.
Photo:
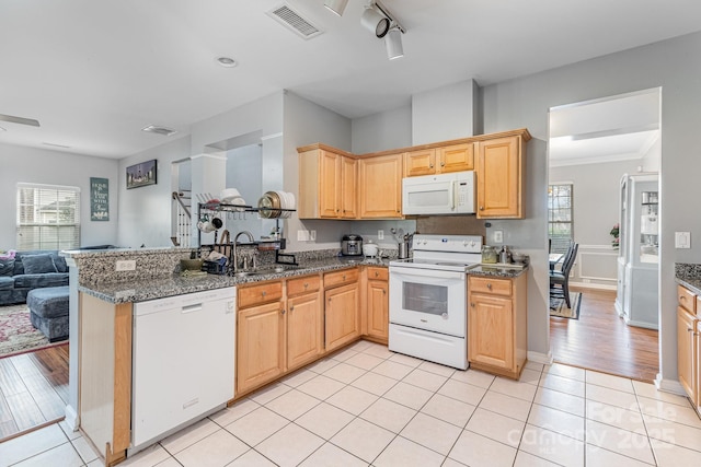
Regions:
[[[701, 221], [698, 215], [689, 215], [691, 200], [701, 199], [701, 184], [697, 182], [701, 173], [698, 138], [701, 114], [697, 112], [701, 107], [698, 79], [701, 61], [689, 60], [700, 48], [701, 34], [696, 33], [483, 89], [485, 131], [527, 127], [535, 138], [544, 141], [548, 109], [552, 106], [662, 86], [659, 336], [663, 385], [674, 385], [677, 380], [674, 264], [701, 262]], [[531, 155], [539, 157], [539, 166], [545, 166], [544, 147], [542, 152], [531, 152]], [[527, 182], [532, 187], [529, 189], [544, 191], [543, 185], [533, 185], [531, 175]], [[690, 249], [674, 248], [675, 231], [691, 232]], [[544, 258], [538, 259], [543, 265], [538, 273], [545, 275]], [[548, 319], [547, 307], [540, 313], [538, 319], [533, 319], [536, 328], [529, 328], [529, 348], [548, 341], [547, 326], [540, 325]]]

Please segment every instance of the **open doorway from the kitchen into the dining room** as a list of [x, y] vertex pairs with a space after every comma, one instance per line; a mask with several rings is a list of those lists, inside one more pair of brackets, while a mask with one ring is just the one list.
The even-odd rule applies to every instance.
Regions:
[[[630, 271], [635, 269], [631, 255], [641, 248], [640, 220], [637, 231], [618, 232], [621, 222], [629, 225], [641, 215], [628, 209], [622, 218], [621, 179], [659, 179], [660, 100], [662, 89], [656, 87], [550, 108], [549, 184], [571, 186], [572, 206], [570, 218], [559, 219], [560, 213], [550, 210], [548, 222], [552, 227], [553, 221], [566, 221], [571, 237], [565, 241], [578, 244], [570, 288], [582, 294], [577, 319], [550, 318], [556, 362], [644, 381], [653, 381], [657, 373], [658, 300], [654, 300], [656, 313], [642, 324], [622, 313], [617, 303], [624, 293], [631, 299], [631, 290], [623, 291], [622, 284], [631, 280]], [[658, 183], [656, 188], [659, 191]], [[632, 202], [636, 199], [631, 198]], [[619, 248], [620, 235], [629, 240], [621, 246], [623, 250]], [[562, 236], [555, 243], [562, 244]], [[655, 262], [645, 267], [658, 278], [659, 260], [653, 259]], [[658, 296], [658, 288], [659, 281], [654, 280], [648, 289]]]

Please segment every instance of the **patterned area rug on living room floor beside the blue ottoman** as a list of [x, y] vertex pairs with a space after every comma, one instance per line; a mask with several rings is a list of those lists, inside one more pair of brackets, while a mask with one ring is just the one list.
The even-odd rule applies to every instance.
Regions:
[[66, 341], [50, 343], [32, 326], [25, 304], [0, 306], [0, 359], [61, 343]]

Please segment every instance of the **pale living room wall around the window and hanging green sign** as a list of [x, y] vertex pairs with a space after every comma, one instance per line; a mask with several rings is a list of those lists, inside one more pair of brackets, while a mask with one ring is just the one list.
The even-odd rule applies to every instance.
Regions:
[[[118, 162], [67, 152], [0, 144], [0, 249], [16, 244], [15, 212], [18, 183], [64, 185], [80, 188], [81, 246], [117, 243]], [[110, 221], [90, 220], [90, 177], [110, 180]]]

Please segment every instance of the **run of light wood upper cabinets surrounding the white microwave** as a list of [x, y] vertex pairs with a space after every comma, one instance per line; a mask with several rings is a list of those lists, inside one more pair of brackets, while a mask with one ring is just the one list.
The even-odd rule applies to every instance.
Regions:
[[356, 156], [298, 148], [300, 219], [401, 219], [402, 177], [474, 171], [478, 219], [524, 219], [527, 129]]

